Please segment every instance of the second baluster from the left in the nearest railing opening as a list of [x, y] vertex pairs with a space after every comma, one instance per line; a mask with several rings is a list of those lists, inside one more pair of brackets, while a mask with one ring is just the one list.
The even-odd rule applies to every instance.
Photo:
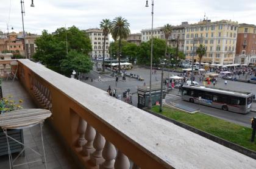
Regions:
[[90, 154], [94, 151], [93, 140], [95, 134], [95, 129], [87, 123], [87, 128], [85, 131], [85, 139], [87, 140], [87, 143], [83, 146], [83, 154], [85, 156], [90, 156]]

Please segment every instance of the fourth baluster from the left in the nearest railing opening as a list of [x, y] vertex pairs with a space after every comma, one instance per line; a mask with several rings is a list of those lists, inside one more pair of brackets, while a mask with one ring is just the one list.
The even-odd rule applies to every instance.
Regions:
[[102, 165], [99, 166], [100, 169], [113, 169], [115, 164], [115, 157], [116, 157], [116, 148], [115, 146], [106, 140], [104, 149], [102, 151], [102, 156], [105, 161]]

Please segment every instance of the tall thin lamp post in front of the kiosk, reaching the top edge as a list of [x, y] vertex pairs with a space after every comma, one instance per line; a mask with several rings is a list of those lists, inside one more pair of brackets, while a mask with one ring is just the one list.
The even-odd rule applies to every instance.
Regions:
[[[154, 0], [152, 1], [152, 22], [151, 22], [151, 58], [150, 58], [150, 78], [149, 78], [149, 108], [152, 108], [152, 98], [151, 98], [151, 76], [152, 76], [152, 60], [153, 60], [153, 21], [154, 21]], [[146, 7], [149, 7], [148, 1], [146, 1]]]

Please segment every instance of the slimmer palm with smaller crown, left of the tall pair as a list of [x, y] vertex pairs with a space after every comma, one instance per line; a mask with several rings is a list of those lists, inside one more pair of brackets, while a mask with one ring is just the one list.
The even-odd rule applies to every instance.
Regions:
[[101, 29], [103, 30], [103, 35], [104, 35], [102, 72], [105, 72], [105, 43], [106, 43], [106, 37], [108, 36], [108, 33], [111, 30], [110, 19], [103, 19], [101, 21], [101, 24], [99, 24], [99, 27], [101, 27]]

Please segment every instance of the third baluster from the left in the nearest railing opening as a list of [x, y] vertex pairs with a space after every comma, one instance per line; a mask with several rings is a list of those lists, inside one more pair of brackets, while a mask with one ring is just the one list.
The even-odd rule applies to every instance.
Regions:
[[104, 162], [104, 158], [102, 157], [102, 150], [104, 148], [105, 144], [105, 138], [96, 131], [96, 137], [93, 142], [93, 147], [95, 148], [94, 153], [91, 156], [91, 162], [93, 162], [94, 165], [99, 165]]

